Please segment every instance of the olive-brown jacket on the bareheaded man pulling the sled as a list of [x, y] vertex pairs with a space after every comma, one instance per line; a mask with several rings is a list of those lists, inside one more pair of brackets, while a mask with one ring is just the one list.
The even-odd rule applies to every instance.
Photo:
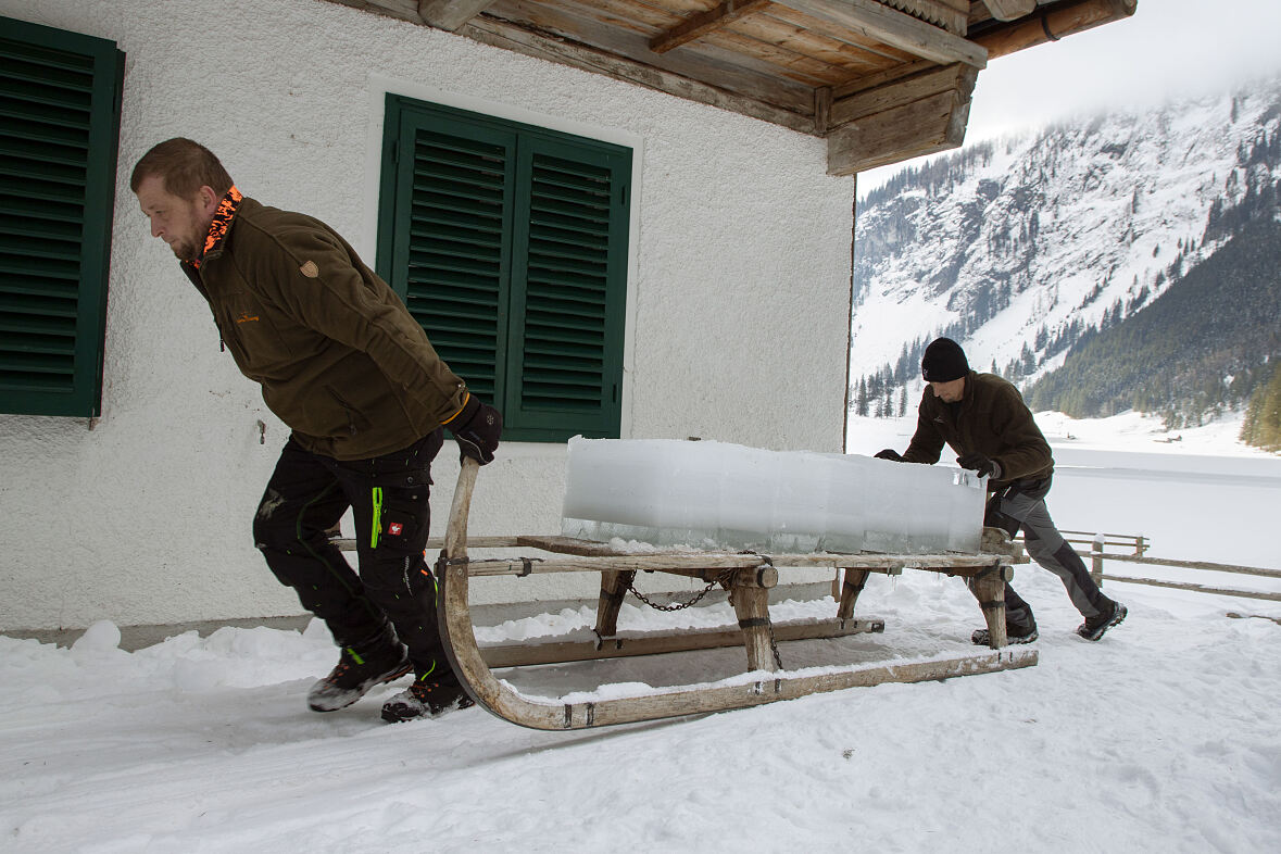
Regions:
[[461, 379], [400, 297], [332, 228], [228, 193], [199, 264], [236, 365], [307, 451], [361, 460], [405, 448], [462, 408]]

